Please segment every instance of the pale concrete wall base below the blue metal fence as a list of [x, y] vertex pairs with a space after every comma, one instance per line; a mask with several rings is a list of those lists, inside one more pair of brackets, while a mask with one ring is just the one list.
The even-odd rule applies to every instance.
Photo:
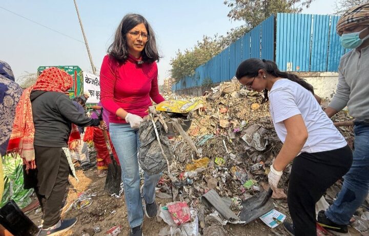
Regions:
[[[297, 73], [300, 78], [306, 79], [314, 87], [314, 92], [321, 98], [331, 99], [335, 94], [338, 82], [338, 73], [336, 72], [304, 72]], [[205, 91], [209, 91], [210, 87], [215, 87], [219, 83], [214, 83], [211, 86], [196, 87], [184, 90], [177, 90], [174, 93], [182, 95], [201, 96]]]

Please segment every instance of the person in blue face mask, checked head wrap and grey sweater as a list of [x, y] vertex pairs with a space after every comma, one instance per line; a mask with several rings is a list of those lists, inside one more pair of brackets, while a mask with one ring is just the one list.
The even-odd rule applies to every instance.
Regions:
[[325, 113], [332, 117], [347, 105], [355, 118], [354, 160], [336, 201], [319, 212], [318, 222], [334, 233], [349, 235], [347, 225], [369, 190], [369, 4], [344, 13], [337, 33], [341, 45], [352, 50], [341, 57], [336, 94]]

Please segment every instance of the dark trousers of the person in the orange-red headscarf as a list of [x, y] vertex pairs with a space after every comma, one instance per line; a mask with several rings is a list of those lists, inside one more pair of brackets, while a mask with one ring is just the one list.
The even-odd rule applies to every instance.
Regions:
[[68, 184], [69, 164], [61, 147], [34, 147], [37, 169], [31, 178], [44, 213], [43, 228], [49, 228], [60, 220], [60, 208]]

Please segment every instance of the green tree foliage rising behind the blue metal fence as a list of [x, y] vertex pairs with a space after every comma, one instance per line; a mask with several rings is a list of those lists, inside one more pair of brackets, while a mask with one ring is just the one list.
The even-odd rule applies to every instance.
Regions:
[[[231, 20], [242, 20], [245, 24], [231, 29], [226, 35], [203, 36], [201, 41], [171, 59], [170, 71], [174, 82], [193, 76], [195, 69], [219, 54], [238, 38], [259, 25], [264, 19], [277, 12], [301, 12], [302, 7], [309, 7], [314, 0], [226, 0], [224, 4], [231, 8], [228, 16]], [[348, 1], [348, 0], [347, 0]], [[298, 7], [295, 5], [299, 4]]]

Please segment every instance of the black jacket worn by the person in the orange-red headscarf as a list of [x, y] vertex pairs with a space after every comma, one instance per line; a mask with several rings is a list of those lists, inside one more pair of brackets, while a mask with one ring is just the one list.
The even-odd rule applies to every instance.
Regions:
[[81, 127], [99, 125], [98, 119], [78, 112], [64, 93], [34, 90], [30, 99], [35, 126], [34, 145], [66, 147], [72, 123]]

